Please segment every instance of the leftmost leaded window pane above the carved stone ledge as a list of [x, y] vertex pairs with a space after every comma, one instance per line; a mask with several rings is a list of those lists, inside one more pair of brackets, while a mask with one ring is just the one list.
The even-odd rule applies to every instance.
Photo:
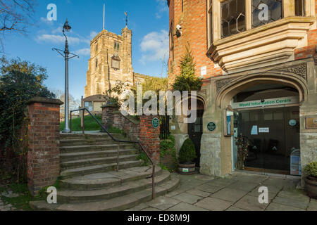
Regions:
[[228, 37], [244, 30], [244, 0], [229, 0], [221, 3], [221, 37]]

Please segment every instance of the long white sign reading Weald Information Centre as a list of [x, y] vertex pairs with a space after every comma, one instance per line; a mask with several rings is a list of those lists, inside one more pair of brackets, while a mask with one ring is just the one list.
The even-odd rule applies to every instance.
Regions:
[[256, 101], [244, 101], [241, 103], [232, 103], [232, 108], [254, 108], [268, 105], [288, 105], [299, 103], [299, 96], [291, 97], [281, 97], [281, 98], [271, 98], [265, 100], [256, 100]]

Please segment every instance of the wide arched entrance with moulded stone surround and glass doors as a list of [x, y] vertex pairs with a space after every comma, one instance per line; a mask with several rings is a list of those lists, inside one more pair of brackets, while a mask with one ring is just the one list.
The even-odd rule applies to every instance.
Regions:
[[[299, 111], [308, 96], [303, 77], [290, 72], [247, 75], [223, 86], [216, 95], [221, 110], [233, 111], [232, 166], [237, 162], [235, 137], [242, 134], [250, 146], [247, 169], [290, 174], [290, 154], [300, 150]], [[228, 154], [228, 150], [225, 152]]]

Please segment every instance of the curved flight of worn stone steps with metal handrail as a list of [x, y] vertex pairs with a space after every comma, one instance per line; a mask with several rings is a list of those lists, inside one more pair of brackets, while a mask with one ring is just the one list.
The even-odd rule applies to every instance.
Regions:
[[[122, 134], [113, 134], [125, 140]], [[127, 210], [151, 200], [151, 166], [137, 160], [138, 148], [118, 143], [107, 134], [61, 134], [61, 181], [57, 204], [31, 202], [34, 210], [106, 211]], [[155, 195], [164, 195], [179, 185], [170, 173], [156, 166]]]

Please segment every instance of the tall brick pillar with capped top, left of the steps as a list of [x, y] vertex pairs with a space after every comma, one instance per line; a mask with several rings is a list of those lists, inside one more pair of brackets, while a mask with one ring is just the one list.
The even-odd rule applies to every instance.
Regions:
[[59, 107], [57, 99], [32, 98], [27, 101], [28, 126], [27, 186], [32, 195], [54, 184], [59, 165]]

